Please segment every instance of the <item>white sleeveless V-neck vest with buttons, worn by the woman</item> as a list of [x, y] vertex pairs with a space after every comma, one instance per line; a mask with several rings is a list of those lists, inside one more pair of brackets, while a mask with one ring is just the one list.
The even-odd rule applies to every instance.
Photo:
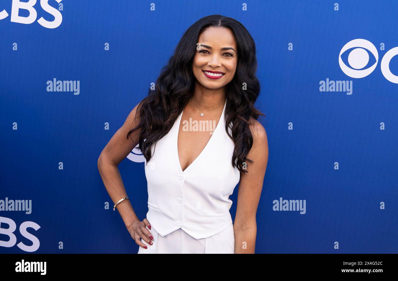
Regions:
[[225, 131], [225, 105], [209, 142], [185, 171], [177, 149], [183, 112], [154, 150], [152, 145], [153, 156], [145, 161], [146, 218], [161, 236], [181, 228], [195, 239], [207, 238], [232, 223], [229, 196], [240, 180], [240, 171], [231, 163], [234, 143]]

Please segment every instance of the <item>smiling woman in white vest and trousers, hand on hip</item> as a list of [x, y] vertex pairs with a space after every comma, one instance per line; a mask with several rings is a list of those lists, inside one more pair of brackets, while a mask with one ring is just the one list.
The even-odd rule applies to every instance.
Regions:
[[[254, 108], [256, 68], [255, 43], [241, 23], [221, 15], [199, 19], [156, 89], [103, 149], [101, 178], [139, 253], [254, 253], [268, 160], [267, 134], [256, 121], [264, 114]], [[142, 221], [117, 169], [137, 144], [148, 181]], [[228, 197], [238, 183], [232, 223]]]

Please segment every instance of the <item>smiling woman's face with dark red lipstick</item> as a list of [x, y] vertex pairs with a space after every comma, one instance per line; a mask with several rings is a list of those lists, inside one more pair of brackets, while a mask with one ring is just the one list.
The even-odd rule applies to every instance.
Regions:
[[[199, 35], [198, 43], [201, 45], [192, 64], [197, 81], [209, 89], [224, 87], [234, 78], [238, 62], [234, 34], [225, 27], [208, 27]], [[211, 76], [205, 72], [207, 70], [222, 74], [212, 73]]]

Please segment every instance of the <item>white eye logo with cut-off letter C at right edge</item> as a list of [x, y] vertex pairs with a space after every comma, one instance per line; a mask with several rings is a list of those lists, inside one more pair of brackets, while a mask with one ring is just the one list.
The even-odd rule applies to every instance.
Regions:
[[[350, 67], [345, 65], [343, 60], [341, 59], [341, 54], [345, 51], [352, 49], [348, 54], [348, 64]], [[363, 69], [365, 66], [369, 64], [369, 53], [366, 50], [369, 50], [371, 54], [375, 57], [375, 63], [372, 64], [369, 68]], [[392, 48], [388, 52], [386, 52], [381, 60], [380, 69], [383, 76], [392, 83], [398, 83], [398, 76], [392, 74], [390, 71], [390, 60], [398, 54], [398, 47]], [[341, 48], [339, 54], [339, 65], [341, 70], [349, 77], [352, 78], [363, 78], [368, 76], [375, 70], [378, 62], [378, 52], [370, 41], [365, 39], [354, 39], [349, 41], [347, 44]]]

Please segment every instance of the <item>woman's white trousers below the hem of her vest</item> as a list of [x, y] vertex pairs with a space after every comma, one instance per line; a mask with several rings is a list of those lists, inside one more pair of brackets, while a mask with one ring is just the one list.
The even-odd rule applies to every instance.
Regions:
[[[146, 227], [148, 229], [148, 227]], [[139, 246], [138, 254], [234, 254], [235, 236], [232, 223], [223, 231], [202, 239], [195, 239], [182, 229], [162, 237], [151, 226], [153, 236], [150, 245], [141, 239], [148, 248]]]

